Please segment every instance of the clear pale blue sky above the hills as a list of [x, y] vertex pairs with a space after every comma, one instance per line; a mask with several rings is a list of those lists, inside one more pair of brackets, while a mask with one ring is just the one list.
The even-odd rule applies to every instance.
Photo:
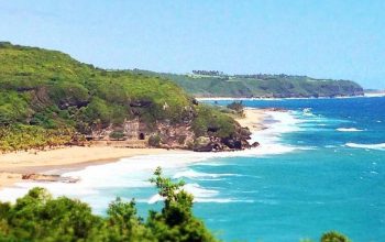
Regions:
[[103, 68], [289, 74], [385, 89], [383, 0], [0, 0], [0, 41]]

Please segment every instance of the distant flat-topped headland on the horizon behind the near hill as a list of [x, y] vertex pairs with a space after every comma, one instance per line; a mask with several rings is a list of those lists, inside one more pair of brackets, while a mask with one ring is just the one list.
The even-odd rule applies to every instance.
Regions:
[[224, 75], [194, 70], [190, 75], [162, 74], [134, 69], [150, 76], [172, 79], [195, 97], [310, 98], [362, 96], [363, 89], [351, 80], [315, 79], [288, 75]]

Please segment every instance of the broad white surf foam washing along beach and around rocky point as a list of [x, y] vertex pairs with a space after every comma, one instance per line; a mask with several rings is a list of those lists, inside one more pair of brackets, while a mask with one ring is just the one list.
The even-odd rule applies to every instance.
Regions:
[[[293, 112], [270, 111], [267, 114], [276, 122], [266, 124], [268, 129], [262, 130], [252, 134], [253, 141], [258, 141], [261, 145], [256, 148], [245, 150], [241, 152], [220, 152], [220, 153], [170, 153], [160, 155], [145, 155], [129, 158], [121, 158], [116, 163], [103, 165], [88, 166], [84, 169], [63, 174], [64, 176], [78, 177], [80, 180], [76, 184], [64, 183], [19, 183], [15, 187], [4, 188], [0, 190], [1, 200], [14, 201], [28, 193], [29, 189], [35, 186], [47, 188], [54, 196], [69, 196], [80, 198], [89, 202], [92, 208], [102, 210], [109, 200], [113, 199], [113, 194], [105, 195], [103, 190], [114, 190], [119, 188], [145, 188], [152, 187], [148, 178], [153, 170], [161, 166], [165, 175], [175, 174], [175, 178], [191, 178], [191, 179], [215, 179], [223, 176], [237, 176], [237, 174], [208, 174], [198, 173], [188, 168], [193, 163], [207, 163], [212, 166], [222, 165], [219, 157], [238, 157], [252, 156], [258, 157], [272, 154], [283, 154], [301, 150], [306, 147], [290, 146], [280, 143], [280, 134], [287, 132], [300, 131], [298, 123], [301, 120], [297, 119]], [[209, 160], [209, 161], [207, 161]], [[219, 191], [206, 189], [198, 184], [187, 184], [185, 189], [195, 196], [195, 201], [198, 202], [235, 202], [240, 200], [232, 198], [222, 198]], [[143, 199], [143, 198], [140, 198]], [[146, 202], [155, 202], [158, 197], [151, 197]], [[249, 202], [249, 201], [242, 201]]]

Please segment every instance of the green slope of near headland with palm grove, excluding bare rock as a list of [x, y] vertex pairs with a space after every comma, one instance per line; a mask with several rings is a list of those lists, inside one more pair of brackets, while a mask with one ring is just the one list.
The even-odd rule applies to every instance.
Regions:
[[[199, 132], [209, 123], [198, 117], [213, 117], [206, 109], [200, 116], [193, 98], [165, 78], [105, 70], [61, 52], [0, 43], [0, 151], [62, 144], [75, 132], [87, 134], [134, 117], [148, 127], [182, 123], [191, 119], [186, 110], [199, 120]], [[219, 125], [223, 120], [234, 124], [217, 114], [212, 119]]]

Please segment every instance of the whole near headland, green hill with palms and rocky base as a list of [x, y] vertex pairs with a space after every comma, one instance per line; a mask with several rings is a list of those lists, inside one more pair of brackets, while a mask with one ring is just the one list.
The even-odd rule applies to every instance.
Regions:
[[229, 145], [248, 144], [249, 134], [241, 131], [232, 118], [198, 105], [167, 79], [110, 72], [61, 52], [0, 43], [0, 152], [86, 141], [242, 148]]

